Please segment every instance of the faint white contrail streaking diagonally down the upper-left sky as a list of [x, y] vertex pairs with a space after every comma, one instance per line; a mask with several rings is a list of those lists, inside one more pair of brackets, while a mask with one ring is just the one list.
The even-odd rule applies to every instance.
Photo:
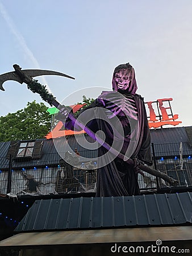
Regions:
[[[15, 38], [18, 40], [20, 46], [23, 48], [23, 51], [26, 53], [26, 55], [31, 59], [32, 63], [34, 63], [35, 68], [40, 69], [40, 65], [38, 61], [36, 60], [34, 54], [31, 52], [31, 50], [28, 48], [26, 41], [24, 40], [23, 36], [20, 34], [20, 32], [16, 29], [14, 22], [12, 22], [12, 19], [10, 15], [7, 13], [5, 7], [0, 2], [0, 13], [2, 14], [3, 18], [5, 19], [7, 25], [10, 28], [10, 31], [15, 36]], [[46, 88], [51, 92], [51, 89], [47, 85], [47, 81], [44, 77], [41, 77], [41, 80], [43, 81], [43, 84], [46, 85]]]

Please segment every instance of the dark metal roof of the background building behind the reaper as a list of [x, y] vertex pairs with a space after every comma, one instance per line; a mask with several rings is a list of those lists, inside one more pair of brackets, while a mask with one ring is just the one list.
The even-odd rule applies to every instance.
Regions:
[[[155, 146], [156, 156], [175, 156], [179, 155], [180, 143], [183, 146], [183, 155], [191, 155], [192, 147], [190, 146], [189, 136], [187, 135], [186, 128], [190, 127], [172, 127], [163, 129], [151, 129], [151, 142]], [[89, 142], [93, 142], [93, 139], [89, 135], [85, 135]], [[81, 144], [84, 144], [84, 135], [78, 135]], [[67, 138], [56, 138], [56, 139], [41, 139], [43, 141], [43, 147], [41, 150], [40, 159], [31, 159], [27, 161], [14, 161], [12, 168], [20, 167], [31, 167], [31, 166], [42, 166], [42, 165], [54, 165], [59, 163], [61, 154], [65, 151], [74, 151], [77, 148], [81, 155], [88, 158], [97, 158], [97, 150], [86, 149], [77, 144], [76, 137], [69, 136]], [[69, 147], [65, 147], [69, 144]], [[9, 159], [6, 159], [7, 152], [9, 151], [10, 142], [0, 142], [0, 168], [9, 168]]]

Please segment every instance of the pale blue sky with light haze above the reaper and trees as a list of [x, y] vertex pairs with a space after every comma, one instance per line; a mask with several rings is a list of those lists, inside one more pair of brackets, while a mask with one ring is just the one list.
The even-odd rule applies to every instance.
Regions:
[[[35, 78], [73, 105], [110, 90], [114, 68], [129, 62], [137, 93], [145, 101], [173, 98], [180, 126], [192, 125], [191, 0], [0, 0], [0, 31], [0, 74], [18, 64], [73, 76]], [[3, 87], [0, 116], [43, 102], [26, 84]]]

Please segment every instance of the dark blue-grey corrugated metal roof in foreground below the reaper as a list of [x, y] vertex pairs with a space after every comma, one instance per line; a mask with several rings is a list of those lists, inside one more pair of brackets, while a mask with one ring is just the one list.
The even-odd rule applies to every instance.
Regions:
[[191, 196], [186, 192], [37, 200], [15, 231], [189, 224]]

